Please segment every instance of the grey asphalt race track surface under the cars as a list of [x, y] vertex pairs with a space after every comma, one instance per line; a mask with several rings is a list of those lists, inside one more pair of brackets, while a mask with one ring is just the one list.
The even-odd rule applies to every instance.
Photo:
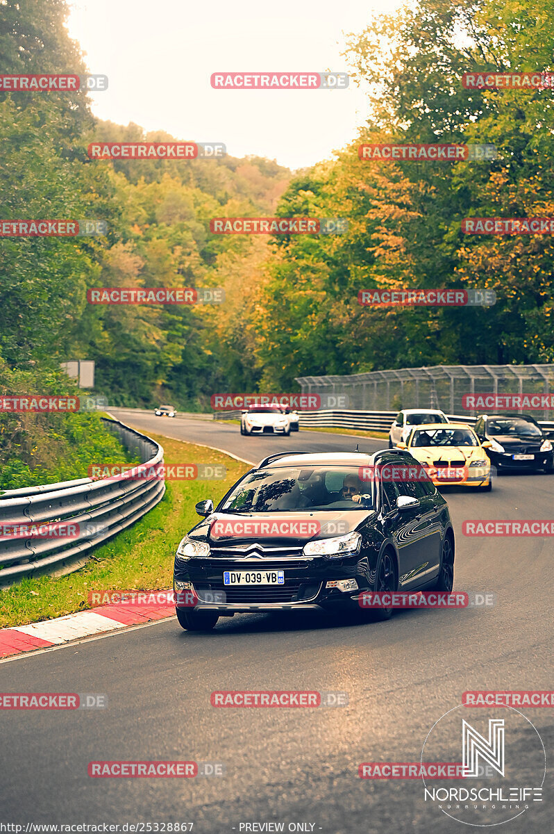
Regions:
[[[307, 431], [243, 438], [236, 424], [112, 413], [146, 433], [210, 445], [252, 462], [278, 450], [385, 445]], [[381, 624], [307, 612], [236, 615], [209, 634], [164, 620], [0, 663], [2, 692], [107, 695], [103, 710], [0, 711], [2, 821], [192, 822], [197, 834], [247, 834], [263, 828], [246, 824], [265, 822], [283, 822], [284, 831], [305, 823], [303, 830], [316, 834], [467, 831], [424, 801], [421, 780], [362, 780], [358, 766], [419, 761], [427, 733], [462, 703], [464, 691], [552, 688], [552, 538], [468, 538], [462, 522], [552, 519], [553, 498], [549, 475], [504, 475], [490, 494], [448, 490], [457, 532], [455, 588], [492, 592], [492, 606], [404, 610]], [[210, 693], [219, 690], [339, 691], [348, 703], [216, 709]], [[462, 711], [476, 728], [488, 717], [512, 713]], [[552, 709], [522, 712], [547, 751], [547, 790], [544, 801], [495, 830], [546, 834], [554, 817]], [[509, 732], [507, 727], [507, 771], [517, 783], [536, 785], [537, 750], [525, 723], [512, 722]], [[423, 761], [461, 761], [461, 736], [457, 759], [446, 738], [428, 747], [431, 755]], [[89, 761], [113, 760], [222, 762], [226, 775], [87, 776]]]

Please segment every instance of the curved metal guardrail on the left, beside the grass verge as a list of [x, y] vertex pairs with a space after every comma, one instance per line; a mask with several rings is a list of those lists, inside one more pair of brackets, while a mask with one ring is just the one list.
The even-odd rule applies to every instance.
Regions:
[[[141, 464], [163, 464], [163, 448], [119, 420], [103, 422]], [[62, 576], [84, 565], [90, 551], [142, 518], [162, 500], [164, 480], [79, 478], [57, 484], [5, 490], [0, 494], [0, 525], [75, 525], [72, 538], [3, 538], [0, 587], [25, 576]]]

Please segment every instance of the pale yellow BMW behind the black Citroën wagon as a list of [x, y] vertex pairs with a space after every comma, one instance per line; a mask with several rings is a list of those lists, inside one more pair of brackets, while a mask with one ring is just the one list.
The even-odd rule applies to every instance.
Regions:
[[406, 443], [397, 443], [397, 449], [407, 449], [425, 466], [433, 484], [487, 492], [492, 490], [491, 460], [485, 451], [490, 446], [465, 423], [415, 425]]

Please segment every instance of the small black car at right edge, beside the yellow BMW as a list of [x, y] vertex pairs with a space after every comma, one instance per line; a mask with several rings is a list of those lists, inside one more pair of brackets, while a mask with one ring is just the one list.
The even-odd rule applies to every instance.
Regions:
[[528, 414], [479, 414], [474, 429], [497, 471], [554, 469], [552, 441]]

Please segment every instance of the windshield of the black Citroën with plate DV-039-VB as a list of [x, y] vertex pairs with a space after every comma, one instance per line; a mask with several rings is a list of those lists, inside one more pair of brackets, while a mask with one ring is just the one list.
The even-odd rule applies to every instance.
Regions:
[[358, 475], [357, 466], [257, 470], [232, 490], [218, 510], [227, 513], [273, 513], [373, 509], [372, 483], [360, 480]]

